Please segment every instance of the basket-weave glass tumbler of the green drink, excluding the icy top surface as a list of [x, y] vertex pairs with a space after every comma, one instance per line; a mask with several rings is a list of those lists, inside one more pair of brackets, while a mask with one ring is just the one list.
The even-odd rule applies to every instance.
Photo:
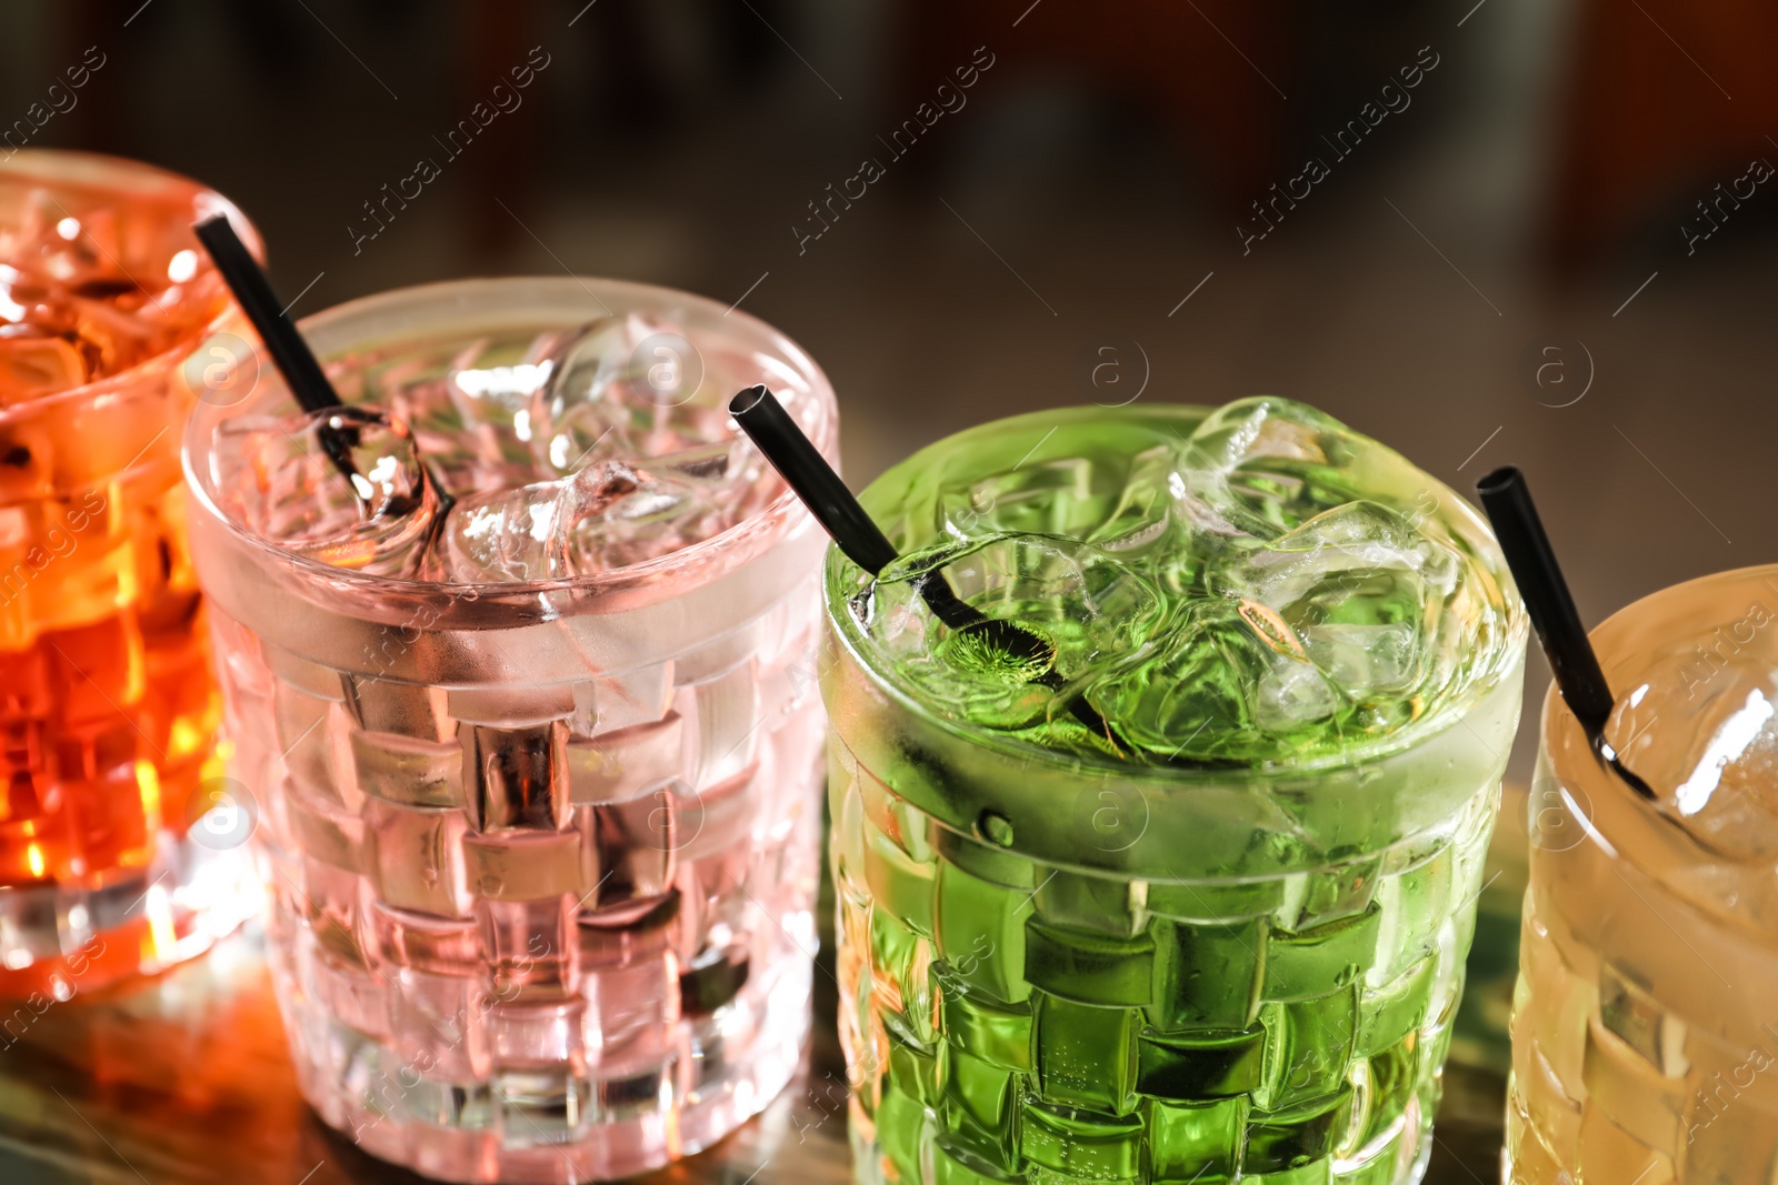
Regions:
[[[1189, 432], [1204, 410], [1172, 414]], [[1019, 455], [1045, 426], [941, 441], [864, 503], [896, 524], [912, 467], [971, 474], [978, 444]], [[1501, 572], [1474, 512], [1426, 481]], [[1419, 1180], [1522, 618], [1438, 730], [1291, 769], [1184, 771], [1038, 753], [935, 714], [873, 668], [853, 581], [829, 561], [821, 688], [857, 1180]]]

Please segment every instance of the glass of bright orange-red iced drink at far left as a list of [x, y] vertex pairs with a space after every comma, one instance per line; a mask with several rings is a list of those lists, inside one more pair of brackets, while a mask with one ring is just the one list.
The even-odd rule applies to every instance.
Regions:
[[229, 318], [190, 231], [215, 213], [258, 247], [171, 172], [0, 160], [0, 997], [160, 970], [256, 908], [210, 815], [220, 704], [178, 460], [194, 396], [228, 398], [181, 368]]

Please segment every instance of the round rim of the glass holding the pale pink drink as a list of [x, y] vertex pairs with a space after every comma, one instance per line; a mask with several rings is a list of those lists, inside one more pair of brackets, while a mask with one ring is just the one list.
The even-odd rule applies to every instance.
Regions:
[[[814, 362], [809, 354], [797, 345], [784, 332], [773, 329], [770, 323], [743, 313], [740, 309], [729, 309], [718, 300], [709, 297], [701, 297], [677, 288], [667, 288], [663, 284], [642, 284], [635, 281], [615, 281], [601, 277], [580, 277], [580, 275], [489, 275], [489, 277], [469, 277], [453, 281], [437, 281], [430, 284], [411, 284], [405, 288], [391, 288], [388, 291], [372, 293], [368, 297], [357, 297], [347, 300], [320, 313], [311, 313], [297, 322], [302, 329], [302, 336], [308, 338], [316, 357], [325, 361], [329, 355], [350, 350], [352, 346], [364, 345], [366, 336], [373, 334], [373, 325], [379, 318], [396, 318], [402, 313], [418, 313], [432, 307], [434, 311], [450, 311], [453, 306], [457, 313], [466, 320], [482, 327], [500, 325], [503, 320], [519, 325], [535, 325], [535, 318], [523, 318], [507, 314], [501, 318], [498, 306], [491, 304], [489, 297], [500, 298], [501, 295], [516, 297], [519, 293], [533, 293], [535, 307], [542, 309], [551, 304], [549, 297], [557, 297], [555, 304], [562, 304], [562, 297], [585, 298], [592, 297], [601, 300], [603, 297], [613, 298], [613, 302], [629, 295], [631, 298], [669, 298], [681, 307], [695, 309], [704, 314], [713, 314], [717, 320], [725, 322], [740, 329], [738, 336], [756, 336], [765, 343], [781, 361], [788, 362], [797, 370], [809, 384], [811, 394], [821, 403], [825, 416], [818, 425], [814, 433], [814, 444], [821, 449], [829, 460], [837, 460], [839, 451], [839, 409], [834, 398], [832, 384], [827, 373]], [[603, 297], [601, 297], [603, 293]], [[631, 306], [633, 307], [633, 306]], [[427, 336], [427, 329], [409, 329], [405, 336], [421, 338]], [[692, 332], [686, 338], [697, 345]], [[398, 336], [396, 336], [398, 339]], [[261, 352], [263, 354], [263, 352]], [[277, 375], [276, 368], [267, 361], [267, 371], [272, 382], [283, 387], [283, 377]], [[251, 396], [249, 396], [251, 398]], [[244, 402], [245, 403], [245, 402]], [[350, 586], [357, 593], [398, 593], [402, 597], [428, 597], [437, 595], [446, 600], [485, 600], [500, 604], [503, 600], [535, 599], [548, 597], [553, 593], [599, 593], [599, 592], [621, 592], [633, 588], [640, 583], [653, 583], [656, 579], [667, 577], [679, 569], [697, 567], [706, 558], [718, 556], [724, 551], [736, 551], [749, 545], [765, 547], [775, 542], [775, 538], [788, 537], [800, 519], [807, 517], [807, 510], [802, 501], [791, 490], [784, 490], [770, 505], [759, 512], [749, 515], [741, 522], [718, 531], [708, 538], [701, 538], [695, 544], [679, 547], [663, 556], [654, 556], [653, 560], [644, 560], [640, 563], [624, 565], [621, 569], [608, 569], [603, 572], [590, 572], [585, 576], [562, 576], [542, 581], [478, 581], [478, 583], [444, 583], [444, 581], [420, 581], [404, 579], [396, 576], [375, 576], [359, 572], [354, 569], [341, 569], [311, 556], [300, 556], [292, 551], [284, 551], [277, 544], [247, 531], [233, 517], [229, 517], [212, 496], [212, 481], [208, 476], [208, 465], [199, 471], [199, 460], [210, 458], [210, 446], [213, 442], [213, 428], [220, 425], [229, 414], [240, 414], [244, 403], [219, 407], [199, 403], [197, 409], [187, 418], [185, 433], [180, 448], [180, 458], [185, 473], [185, 485], [190, 490], [190, 497], [196, 503], [194, 512], [203, 513], [213, 522], [220, 524], [228, 537], [233, 540], [233, 547], [245, 549], [249, 553], [260, 554], [263, 560], [272, 561], [284, 569], [295, 569], [306, 576], [325, 581], [336, 586]], [[740, 433], [738, 433], [740, 439]], [[773, 538], [775, 537], [775, 538]]]

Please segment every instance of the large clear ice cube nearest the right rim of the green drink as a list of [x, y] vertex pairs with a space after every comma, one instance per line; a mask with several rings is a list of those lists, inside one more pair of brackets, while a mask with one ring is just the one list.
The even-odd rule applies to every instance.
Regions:
[[1309, 659], [1355, 696], [1399, 696], [1428, 675], [1426, 640], [1456, 588], [1458, 556], [1373, 501], [1326, 510], [1213, 563], [1209, 586], [1277, 613]]

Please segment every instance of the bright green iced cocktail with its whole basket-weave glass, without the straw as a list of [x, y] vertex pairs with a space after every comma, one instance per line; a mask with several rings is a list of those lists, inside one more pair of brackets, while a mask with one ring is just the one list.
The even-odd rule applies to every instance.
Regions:
[[[1284, 400], [1005, 419], [862, 501], [903, 560], [825, 583], [859, 1180], [1417, 1180], [1520, 702], [1481, 519]], [[935, 567], [1021, 631], [939, 624]]]

